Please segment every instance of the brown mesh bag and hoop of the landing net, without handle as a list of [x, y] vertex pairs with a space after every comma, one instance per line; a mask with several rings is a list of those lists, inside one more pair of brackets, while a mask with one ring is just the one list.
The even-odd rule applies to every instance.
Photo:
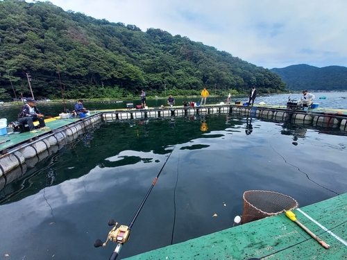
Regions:
[[245, 191], [242, 223], [281, 214], [298, 207], [290, 196], [275, 191]]

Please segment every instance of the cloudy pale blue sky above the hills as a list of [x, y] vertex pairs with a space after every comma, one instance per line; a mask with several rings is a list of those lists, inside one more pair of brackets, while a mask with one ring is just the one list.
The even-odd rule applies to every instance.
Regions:
[[346, 0], [50, 0], [214, 46], [257, 66], [347, 66]]

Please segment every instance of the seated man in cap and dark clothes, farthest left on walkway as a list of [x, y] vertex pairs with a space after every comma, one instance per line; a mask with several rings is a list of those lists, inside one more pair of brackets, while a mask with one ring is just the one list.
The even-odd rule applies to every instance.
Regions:
[[36, 107], [36, 101], [34, 98], [26, 98], [26, 104], [21, 107], [21, 111], [18, 115], [19, 123], [23, 125], [28, 124], [30, 132], [38, 132], [35, 130], [33, 122], [39, 121], [40, 130], [49, 130], [44, 123], [44, 115]]

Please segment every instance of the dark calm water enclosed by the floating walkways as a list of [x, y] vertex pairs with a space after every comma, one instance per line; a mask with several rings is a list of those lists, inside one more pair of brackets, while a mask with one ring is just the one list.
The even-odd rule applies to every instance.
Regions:
[[247, 190], [332, 198], [347, 191], [346, 144], [338, 129], [236, 114], [96, 125], [0, 191], [0, 258], [108, 259], [115, 243], [94, 241], [110, 218], [129, 224], [170, 154], [120, 259], [231, 227]]

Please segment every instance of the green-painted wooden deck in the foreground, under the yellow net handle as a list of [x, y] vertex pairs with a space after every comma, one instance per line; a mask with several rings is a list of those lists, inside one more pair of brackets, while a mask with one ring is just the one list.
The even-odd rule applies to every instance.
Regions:
[[[329, 230], [326, 232], [300, 210]], [[347, 193], [294, 210], [296, 218], [330, 245], [326, 250], [285, 214], [263, 218], [169, 245], [126, 260], [144, 259], [347, 259]], [[335, 236], [334, 236], [335, 235]], [[340, 239], [340, 240], [339, 240]], [[131, 243], [131, 239], [128, 243]], [[124, 245], [130, 246], [130, 245]]]

